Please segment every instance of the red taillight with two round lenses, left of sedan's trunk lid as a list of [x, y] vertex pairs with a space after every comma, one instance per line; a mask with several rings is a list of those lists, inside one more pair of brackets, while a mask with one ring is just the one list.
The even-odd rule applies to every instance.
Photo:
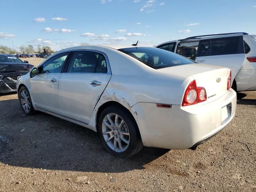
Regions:
[[205, 100], [206, 100], [205, 88], [197, 87], [196, 80], [193, 80], [192, 82], [190, 82], [190, 84], [188, 85], [185, 91], [182, 106], [193, 105], [196, 103], [203, 102]]

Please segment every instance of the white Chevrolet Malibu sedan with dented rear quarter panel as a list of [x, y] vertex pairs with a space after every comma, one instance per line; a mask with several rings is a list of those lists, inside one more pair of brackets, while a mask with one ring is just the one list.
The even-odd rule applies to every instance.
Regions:
[[230, 123], [228, 68], [138, 46], [78, 46], [18, 78], [25, 114], [41, 111], [98, 132], [108, 152], [195, 148]]

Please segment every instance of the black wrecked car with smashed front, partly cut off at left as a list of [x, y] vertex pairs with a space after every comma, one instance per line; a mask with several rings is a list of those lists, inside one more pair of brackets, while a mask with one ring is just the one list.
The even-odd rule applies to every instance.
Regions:
[[32, 67], [14, 55], [0, 54], [0, 93], [16, 92], [18, 76], [27, 74]]

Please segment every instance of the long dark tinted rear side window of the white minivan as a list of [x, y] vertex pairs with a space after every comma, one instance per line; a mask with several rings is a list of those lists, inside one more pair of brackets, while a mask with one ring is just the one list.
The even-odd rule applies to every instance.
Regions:
[[198, 57], [244, 53], [242, 36], [201, 40], [199, 47]]

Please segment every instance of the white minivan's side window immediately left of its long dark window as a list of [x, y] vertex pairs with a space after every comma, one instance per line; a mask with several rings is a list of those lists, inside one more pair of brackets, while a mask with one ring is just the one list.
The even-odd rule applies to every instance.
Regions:
[[196, 60], [198, 44], [199, 44], [199, 41], [181, 42], [177, 46], [176, 53], [178, 53], [186, 58]]

